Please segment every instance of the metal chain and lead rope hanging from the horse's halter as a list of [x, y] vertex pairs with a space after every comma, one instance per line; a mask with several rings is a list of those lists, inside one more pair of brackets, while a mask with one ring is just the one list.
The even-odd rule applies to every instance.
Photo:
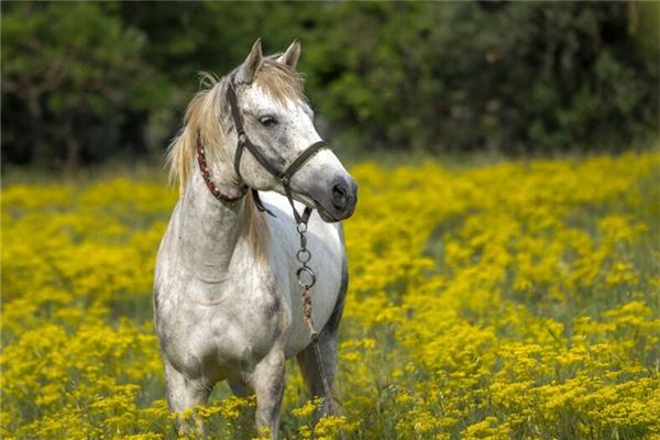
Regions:
[[311, 252], [307, 249], [307, 223], [299, 222], [297, 226], [298, 234], [300, 235], [300, 249], [296, 253], [296, 258], [300, 263], [300, 267], [296, 271], [298, 278], [298, 285], [302, 296], [302, 319], [309, 328], [309, 336], [311, 338], [311, 344], [314, 346], [314, 353], [316, 356], [317, 364], [319, 365], [319, 374], [323, 383], [323, 392], [328, 399], [328, 409], [331, 415], [336, 414], [334, 403], [330, 391], [330, 384], [328, 383], [328, 376], [326, 375], [326, 369], [323, 367], [323, 359], [321, 358], [321, 350], [319, 349], [319, 337], [314, 327], [314, 316], [311, 308], [311, 287], [316, 284], [316, 274], [307, 265], [311, 260]]

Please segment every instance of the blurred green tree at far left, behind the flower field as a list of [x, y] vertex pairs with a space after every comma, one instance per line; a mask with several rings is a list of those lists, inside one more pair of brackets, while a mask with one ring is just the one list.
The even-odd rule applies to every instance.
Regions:
[[142, 62], [145, 36], [112, 8], [2, 7], [3, 155], [42, 164], [64, 157], [75, 170], [84, 154], [103, 155], [120, 142], [130, 111], [157, 99], [158, 78]]

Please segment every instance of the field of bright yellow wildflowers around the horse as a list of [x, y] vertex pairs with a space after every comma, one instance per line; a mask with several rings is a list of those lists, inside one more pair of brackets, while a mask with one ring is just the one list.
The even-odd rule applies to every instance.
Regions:
[[[343, 415], [315, 425], [292, 362], [282, 437], [660, 439], [660, 154], [351, 172]], [[2, 189], [2, 438], [176, 438], [156, 180]], [[212, 400], [216, 438], [254, 435]]]

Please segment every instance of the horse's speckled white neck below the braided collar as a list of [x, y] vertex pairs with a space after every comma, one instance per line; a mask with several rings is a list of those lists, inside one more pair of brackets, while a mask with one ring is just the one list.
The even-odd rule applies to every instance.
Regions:
[[179, 243], [185, 264], [199, 278], [219, 280], [229, 272], [244, 229], [245, 199], [217, 200], [195, 169], [179, 207]]

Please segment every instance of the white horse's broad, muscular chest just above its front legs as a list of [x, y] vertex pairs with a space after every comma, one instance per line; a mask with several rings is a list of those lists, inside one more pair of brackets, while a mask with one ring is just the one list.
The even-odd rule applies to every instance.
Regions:
[[290, 312], [275, 292], [234, 288], [200, 295], [197, 288], [190, 297], [217, 299], [182, 297], [160, 305], [158, 333], [164, 353], [189, 377], [240, 377], [284, 343]]

